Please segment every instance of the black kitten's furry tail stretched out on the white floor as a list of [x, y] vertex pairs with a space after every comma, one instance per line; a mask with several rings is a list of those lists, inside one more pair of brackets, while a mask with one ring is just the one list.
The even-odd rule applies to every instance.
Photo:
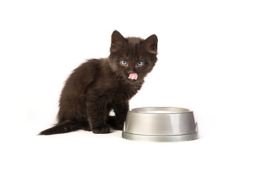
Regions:
[[90, 130], [89, 125], [87, 123], [75, 123], [72, 120], [65, 120], [62, 123], [57, 123], [53, 128], [49, 128], [47, 130], [43, 130], [38, 135], [54, 135], [58, 133], [66, 133], [72, 132], [75, 130]]

